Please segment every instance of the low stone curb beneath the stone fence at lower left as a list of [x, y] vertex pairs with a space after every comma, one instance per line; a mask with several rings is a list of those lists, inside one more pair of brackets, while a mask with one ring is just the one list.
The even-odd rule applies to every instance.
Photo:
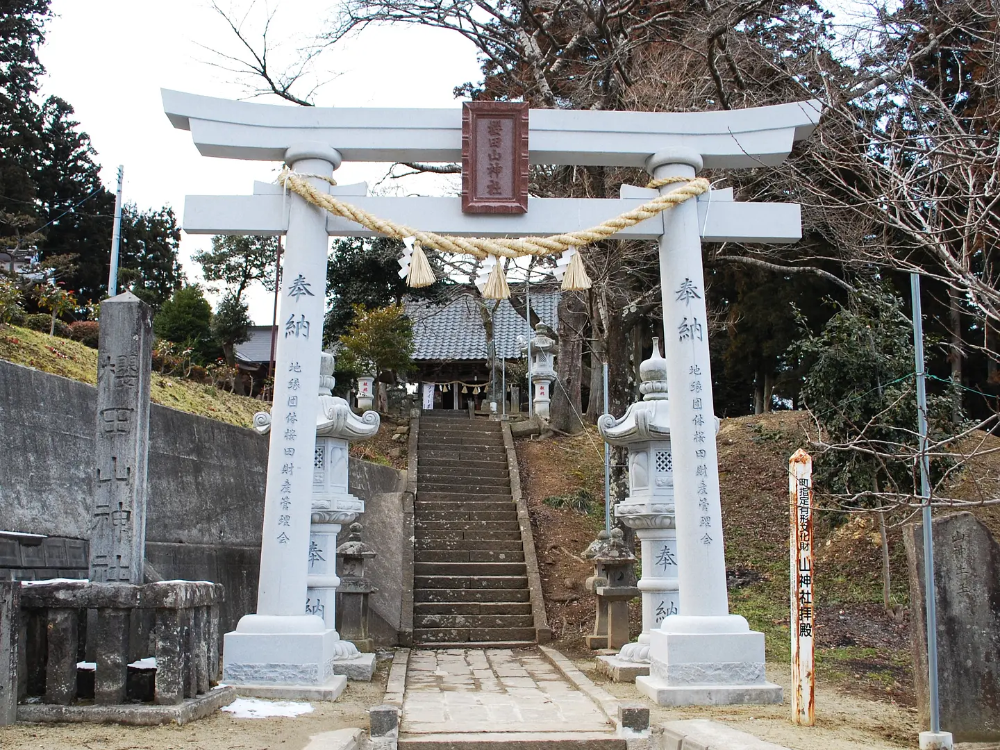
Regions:
[[216, 688], [197, 698], [188, 698], [178, 706], [53, 706], [44, 704], [17, 707], [17, 720], [34, 724], [50, 722], [89, 722], [94, 724], [187, 724], [215, 713], [236, 700], [232, 687]]

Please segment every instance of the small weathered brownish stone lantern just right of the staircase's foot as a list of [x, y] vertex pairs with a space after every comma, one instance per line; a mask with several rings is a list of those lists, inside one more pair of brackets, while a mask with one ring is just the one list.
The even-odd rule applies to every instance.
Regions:
[[[602, 537], [603, 535], [603, 537]], [[635, 583], [636, 557], [623, 539], [621, 529], [601, 531], [584, 553], [590, 554], [594, 575], [586, 586], [597, 595], [594, 633], [586, 637], [591, 649], [621, 648], [629, 641], [628, 602], [639, 596]]]

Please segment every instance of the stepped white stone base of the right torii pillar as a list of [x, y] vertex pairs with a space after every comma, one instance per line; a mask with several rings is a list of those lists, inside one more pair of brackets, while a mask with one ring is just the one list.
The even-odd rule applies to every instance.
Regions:
[[650, 636], [650, 673], [636, 687], [661, 706], [781, 703], [768, 682], [764, 634], [742, 617], [673, 615]]

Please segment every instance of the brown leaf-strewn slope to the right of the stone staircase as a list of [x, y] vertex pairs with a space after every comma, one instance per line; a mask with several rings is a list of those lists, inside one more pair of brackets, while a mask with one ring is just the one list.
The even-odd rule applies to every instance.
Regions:
[[[768, 659], [777, 662], [789, 660], [788, 458], [797, 448], [808, 447], [805, 420], [802, 412], [726, 419], [718, 437], [730, 606], [765, 634]], [[1000, 439], [993, 437], [974, 441], [1000, 448]], [[593, 596], [583, 589], [593, 568], [580, 553], [604, 520], [601, 440], [590, 428], [572, 437], [520, 440], [517, 449], [550, 625], [560, 647], [580, 651], [594, 616]], [[815, 461], [819, 467], [822, 457]], [[1000, 491], [998, 463], [1000, 450], [970, 462], [952, 494], [969, 500], [995, 497]], [[571, 507], [582, 509], [588, 499], [588, 513]], [[1000, 507], [970, 509], [1000, 536]], [[912, 520], [906, 513], [888, 518], [895, 615], [882, 605], [876, 519], [823, 511], [815, 522], [818, 674], [866, 697], [903, 705], [912, 705], [914, 696], [900, 526]], [[637, 602], [633, 607], [638, 634]]]

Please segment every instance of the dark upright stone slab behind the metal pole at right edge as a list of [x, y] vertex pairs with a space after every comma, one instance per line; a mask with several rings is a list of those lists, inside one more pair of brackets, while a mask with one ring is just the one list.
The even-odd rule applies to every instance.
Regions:
[[[971, 513], [935, 518], [938, 695], [941, 727], [956, 742], [1000, 740], [1000, 545]], [[903, 535], [917, 706], [930, 726], [923, 526]]]

